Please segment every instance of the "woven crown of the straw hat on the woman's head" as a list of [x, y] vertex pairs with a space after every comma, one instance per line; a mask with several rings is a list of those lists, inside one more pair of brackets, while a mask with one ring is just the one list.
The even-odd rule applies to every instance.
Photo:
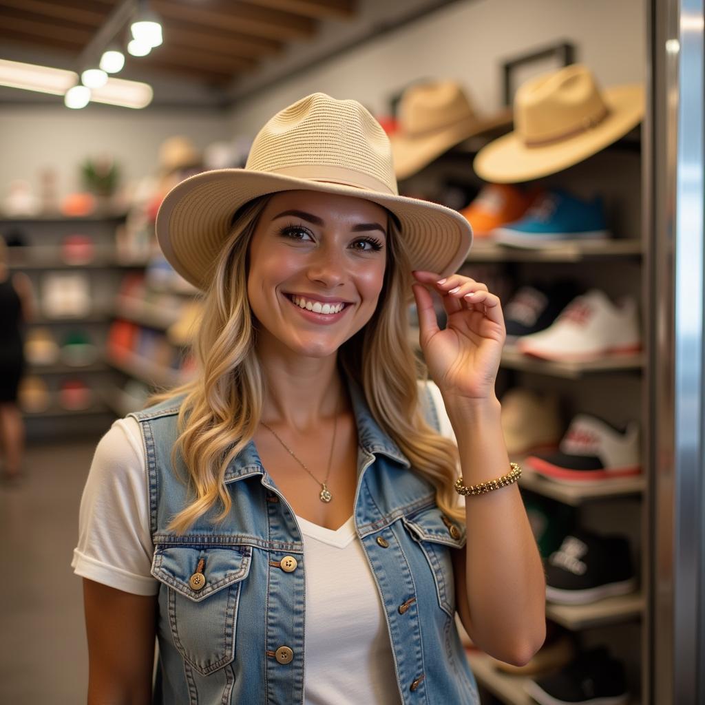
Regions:
[[245, 169], [397, 195], [389, 138], [356, 100], [313, 93], [257, 133]]

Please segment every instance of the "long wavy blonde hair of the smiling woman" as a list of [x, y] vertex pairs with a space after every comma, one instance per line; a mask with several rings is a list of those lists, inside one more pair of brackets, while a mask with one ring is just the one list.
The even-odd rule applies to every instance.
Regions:
[[[269, 201], [262, 196], [245, 204], [233, 218], [212, 283], [204, 294], [204, 312], [195, 336], [196, 374], [185, 384], [154, 393], [145, 406], [185, 394], [178, 413], [178, 439], [171, 451], [188, 470], [193, 501], [176, 514], [168, 530], [186, 532], [218, 501], [225, 520], [232, 502], [223, 478], [228, 464], [255, 434], [265, 394], [257, 355], [257, 329], [247, 298], [249, 245]], [[397, 443], [415, 472], [436, 489], [439, 508], [465, 523], [453, 482], [460, 466], [458, 448], [424, 419], [417, 379], [428, 379], [407, 338], [405, 295], [411, 290], [409, 257], [394, 216], [388, 216], [388, 255], [384, 283], [372, 318], [338, 349], [344, 374], [364, 390], [379, 427]]]

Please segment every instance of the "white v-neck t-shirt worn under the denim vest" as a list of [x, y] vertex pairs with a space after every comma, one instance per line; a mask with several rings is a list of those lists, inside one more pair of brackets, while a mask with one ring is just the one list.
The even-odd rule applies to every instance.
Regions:
[[[441, 434], [455, 441], [441, 392], [430, 381], [429, 389]], [[398, 705], [386, 619], [353, 517], [336, 531], [297, 521], [306, 570], [306, 705]], [[71, 561], [76, 575], [137, 595], [157, 594], [147, 464], [132, 417], [117, 419], [96, 446], [78, 528]]]

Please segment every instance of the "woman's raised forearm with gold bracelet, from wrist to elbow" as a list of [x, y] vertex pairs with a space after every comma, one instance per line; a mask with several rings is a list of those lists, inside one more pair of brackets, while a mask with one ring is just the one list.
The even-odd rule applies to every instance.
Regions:
[[[496, 399], [446, 405], [466, 485], [509, 472], [500, 408]], [[517, 484], [467, 496], [465, 520], [465, 560], [455, 562], [465, 568], [466, 604], [458, 591], [463, 626], [491, 656], [527, 663], [546, 637], [546, 582]]]

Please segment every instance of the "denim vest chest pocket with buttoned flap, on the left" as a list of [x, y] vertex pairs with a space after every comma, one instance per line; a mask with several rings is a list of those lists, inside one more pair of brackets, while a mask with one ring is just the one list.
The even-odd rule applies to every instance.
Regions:
[[154, 551], [160, 611], [168, 613], [176, 649], [202, 675], [235, 658], [240, 589], [251, 559], [250, 546], [157, 545]]

